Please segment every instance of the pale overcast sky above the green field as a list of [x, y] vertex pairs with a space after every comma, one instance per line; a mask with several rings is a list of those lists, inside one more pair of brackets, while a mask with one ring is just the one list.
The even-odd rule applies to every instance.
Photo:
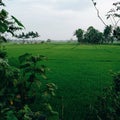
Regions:
[[[17, 17], [26, 31], [37, 31], [41, 39], [69, 40], [76, 29], [86, 30], [94, 26], [102, 31], [104, 25], [98, 19], [91, 0], [4, 0], [9, 13]], [[96, 0], [101, 16], [117, 0]]]

